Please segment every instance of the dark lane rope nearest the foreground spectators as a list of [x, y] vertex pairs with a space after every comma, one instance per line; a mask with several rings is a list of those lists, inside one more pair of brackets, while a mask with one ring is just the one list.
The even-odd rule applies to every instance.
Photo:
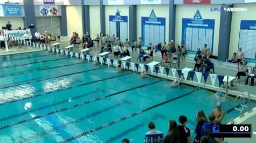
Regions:
[[195, 92], [195, 91], [198, 91], [198, 90], [199, 90], [199, 89], [195, 89], [195, 90], [193, 90], [193, 91], [191, 91], [191, 92], [189, 92], [189, 93], [186, 93], [186, 94], [183, 94], [183, 95], [181, 95], [181, 96], [175, 97], [175, 98], [173, 98], [173, 99], [164, 101], [164, 102], [162, 102], [162, 103], [155, 104], [154, 106], [151, 106], [151, 107], [145, 108], [145, 109], [143, 109], [143, 110], [134, 112], [133, 114], [130, 114], [130, 115], [128, 115], [128, 116], [124, 116], [124, 117], [122, 117], [122, 118], [116, 119], [115, 121], [109, 122], [109, 123], [107, 123], [107, 124], [104, 124], [104, 125], [95, 127], [94, 129], [88, 130], [88, 131], [86, 131], [86, 132], [79, 133], [79, 134], [77, 134], [77, 135], [75, 135], [75, 136], [73, 136], [73, 137], [71, 137], [71, 138], [67, 138], [67, 139], [65, 139], [65, 140], [63, 140], [63, 141], [60, 141], [60, 143], [69, 142], [69, 141], [72, 141], [72, 140], [74, 140], [74, 139], [80, 138], [80, 137], [82, 137], [82, 136], [86, 136], [86, 135], [89, 134], [89, 133], [93, 133], [93, 132], [95, 132], [95, 131], [98, 131], [98, 130], [101, 130], [101, 129], [105, 128], [105, 127], [108, 127], [108, 126], [110, 126], [110, 125], [113, 125], [113, 124], [119, 123], [119, 122], [121, 122], [121, 121], [124, 121], [124, 120], [126, 120], [126, 119], [128, 119], [128, 118], [130, 118], [130, 117], [133, 117], [133, 116], [142, 114], [143, 112], [146, 112], [146, 111], [148, 111], [148, 110], [154, 109], [154, 108], [156, 108], [156, 107], [158, 107], [158, 106], [162, 106], [163, 104], [166, 104], [166, 103], [169, 103], [169, 102], [171, 102], [171, 101], [180, 99], [180, 98], [182, 98], [182, 97], [184, 97], [184, 96], [188, 96], [189, 94], [191, 94], [191, 93], [193, 93], [193, 92]]

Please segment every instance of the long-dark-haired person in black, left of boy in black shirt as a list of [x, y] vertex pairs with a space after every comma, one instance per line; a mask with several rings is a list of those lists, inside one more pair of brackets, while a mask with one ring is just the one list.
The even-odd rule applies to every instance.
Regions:
[[169, 143], [169, 142], [172, 142], [172, 143], [179, 142], [178, 126], [176, 121], [174, 120], [169, 121], [169, 131], [163, 139], [163, 143]]

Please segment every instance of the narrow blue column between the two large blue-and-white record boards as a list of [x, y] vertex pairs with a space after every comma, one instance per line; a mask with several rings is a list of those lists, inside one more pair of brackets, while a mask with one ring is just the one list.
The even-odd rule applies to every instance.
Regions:
[[[174, 0], [170, 0], [169, 3], [169, 41], [175, 42], [175, 19], [176, 19], [176, 5]], [[168, 42], [167, 42], [168, 43]]]

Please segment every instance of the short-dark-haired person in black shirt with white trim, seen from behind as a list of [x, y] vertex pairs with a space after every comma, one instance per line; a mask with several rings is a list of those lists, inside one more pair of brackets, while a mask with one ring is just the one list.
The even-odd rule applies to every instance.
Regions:
[[185, 126], [185, 124], [187, 123], [188, 119], [185, 116], [179, 116], [179, 124], [178, 125], [178, 129], [179, 129], [179, 142], [189, 142], [191, 143], [191, 139], [190, 139], [190, 130], [188, 129], [188, 127]]

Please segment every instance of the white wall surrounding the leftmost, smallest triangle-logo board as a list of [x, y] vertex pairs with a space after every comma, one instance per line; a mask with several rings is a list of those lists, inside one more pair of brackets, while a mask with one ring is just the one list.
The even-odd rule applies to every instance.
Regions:
[[[128, 39], [129, 39], [129, 6], [128, 5], [106, 5], [105, 6], [105, 28], [106, 34], [109, 35], [109, 16], [115, 16], [116, 10], [119, 9], [121, 16], [128, 16]], [[109, 35], [112, 36], [112, 35]], [[116, 36], [116, 35], [115, 35]]]

